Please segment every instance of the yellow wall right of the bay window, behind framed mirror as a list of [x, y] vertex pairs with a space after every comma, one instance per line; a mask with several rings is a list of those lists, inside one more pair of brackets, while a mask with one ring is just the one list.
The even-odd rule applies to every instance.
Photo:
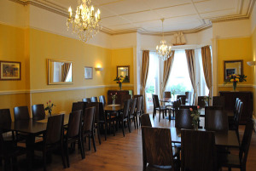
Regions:
[[[247, 61], [253, 60], [251, 37], [230, 38], [218, 40], [218, 84], [224, 83], [224, 60], [243, 60], [243, 74], [247, 76], [247, 82], [238, 83], [253, 85], [253, 68], [247, 66]], [[232, 90], [232, 88], [218, 88], [218, 91]], [[237, 87], [240, 91], [253, 91], [248, 88]]]

